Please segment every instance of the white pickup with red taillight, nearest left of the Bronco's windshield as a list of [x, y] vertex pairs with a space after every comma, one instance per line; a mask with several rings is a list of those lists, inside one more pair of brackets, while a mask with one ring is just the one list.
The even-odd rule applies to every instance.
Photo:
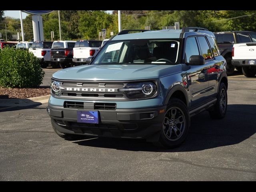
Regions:
[[73, 48], [72, 61], [85, 64], [88, 57], [96, 56], [101, 43], [102, 41], [98, 40], [78, 40]]

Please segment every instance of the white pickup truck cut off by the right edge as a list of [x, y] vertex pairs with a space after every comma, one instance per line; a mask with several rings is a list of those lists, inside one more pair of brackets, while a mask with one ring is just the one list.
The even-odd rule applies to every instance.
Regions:
[[232, 65], [242, 66], [242, 72], [246, 77], [254, 77], [256, 75], [256, 42], [234, 44]]

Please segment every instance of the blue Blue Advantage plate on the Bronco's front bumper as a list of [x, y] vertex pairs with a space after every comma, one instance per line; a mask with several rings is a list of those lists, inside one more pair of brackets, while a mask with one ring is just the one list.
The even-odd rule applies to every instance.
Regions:
[[98, 111], [77, 111], [78, 123], [99, 123]]

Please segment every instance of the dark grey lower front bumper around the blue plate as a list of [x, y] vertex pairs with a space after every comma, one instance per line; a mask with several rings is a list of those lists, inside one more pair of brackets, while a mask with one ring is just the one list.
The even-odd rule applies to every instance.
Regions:
[[166, 106], [143, 109], [98, 110], [99, 124], [77, 122], [77, 110], [48, 104], [53, 126], [60, 133], [157, 141]]

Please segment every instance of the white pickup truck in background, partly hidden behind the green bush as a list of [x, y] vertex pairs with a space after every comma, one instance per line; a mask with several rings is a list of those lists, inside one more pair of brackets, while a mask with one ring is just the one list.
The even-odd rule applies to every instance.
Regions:
[[50, 50], [52, 41], [35, 41], [28, 50], [34, 54], [39, 60], [42, 68], [46, 68], [50, 64]]

